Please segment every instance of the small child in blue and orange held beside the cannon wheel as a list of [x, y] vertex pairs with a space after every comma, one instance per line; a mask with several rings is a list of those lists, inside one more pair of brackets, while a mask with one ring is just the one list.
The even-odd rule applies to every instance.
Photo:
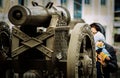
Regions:
[[105, 49], [104, 42], [101, 40], [96, 41], [96, 67], [97, 67], [97, 78], [103, 78], [102, 67], [106, 66], [105, 61], [109, 61], [111, 55]]

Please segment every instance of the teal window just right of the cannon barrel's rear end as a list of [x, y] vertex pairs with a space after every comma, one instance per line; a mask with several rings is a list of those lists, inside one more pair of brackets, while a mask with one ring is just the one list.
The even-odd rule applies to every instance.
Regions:
[[82, 15], [82, 0], [75, 0], [74, 1], [74, 18], [81, 18]]

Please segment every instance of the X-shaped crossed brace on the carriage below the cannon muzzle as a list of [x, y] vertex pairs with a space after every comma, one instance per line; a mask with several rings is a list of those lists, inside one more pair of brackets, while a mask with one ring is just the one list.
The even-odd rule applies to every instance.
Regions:
[[[35, 37], [30, 37], [24, 32], [22, 32], [17, 27], [13, 27], [13, 36], [17, 37], [18, 40], [23, 40], [21, 42], [21, 46], [16, 47], [15, 49], [12, 49], [12, 57], [18, 56], [19, 54], [23, 53], [24, 51], [36, 47], [40, 52], [43, 52], [48, 57], [51, 57], [52, 50], [48, 49], [44, 45], [42, 45], [42, 41], [47, 39], [48, 37], [53, 35], [53, 31], [49, 31], [46, 33], [43, 33], [42, 35]], [[14, 37], [13, 37], [14, 38]], [[14, 45], [13, 45], [14, 46]]]

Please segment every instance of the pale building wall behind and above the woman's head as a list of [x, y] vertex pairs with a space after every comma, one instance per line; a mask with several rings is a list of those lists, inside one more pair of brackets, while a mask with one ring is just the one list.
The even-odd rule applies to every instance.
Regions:
[[106, 0], [106, 5], [101, 5], [100, 0], [91, 0], [91, 4], [85, 4], [83, 0], [82, 18], [88, 23], [101, 23], [106, 28], [106, 42], [113, 44], [113, 18], [114, 1]]

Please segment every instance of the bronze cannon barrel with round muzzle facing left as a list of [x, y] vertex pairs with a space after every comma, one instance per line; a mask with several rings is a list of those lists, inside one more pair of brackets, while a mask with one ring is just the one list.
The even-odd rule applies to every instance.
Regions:
[[63, 15], [61, 12], [64, 14], [67, 22], [69, 22], [70, 14], [63, 7], [46, 8], [44, 6], [31, 6], [28, 8], [15, 5], [9, 10], [8, 18], [14, 25], [49, 26], [52, 14], [61, 16]]

